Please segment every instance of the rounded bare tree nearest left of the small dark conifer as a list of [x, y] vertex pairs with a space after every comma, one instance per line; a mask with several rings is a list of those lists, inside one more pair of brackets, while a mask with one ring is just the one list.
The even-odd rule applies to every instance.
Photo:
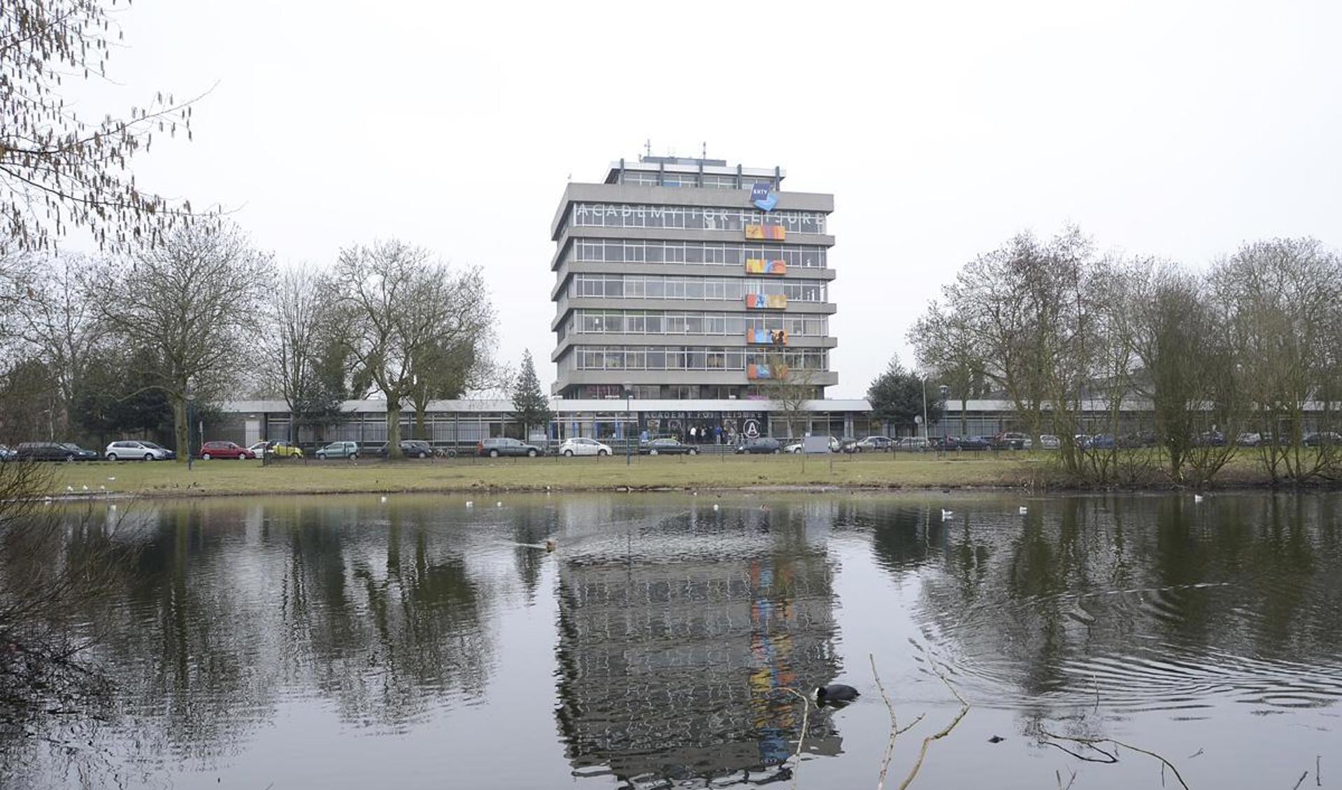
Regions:
[[330, 285], [340, 343], [356, 379], [386, 399], [386, 451], [399, 458], [401, 408], [416, 394], [417, 365], [436, 365], [435, 349], [474, 347], [491, 329], [484, 279], [479, 269], [455, 273], [423, 247], [389, 240], [341, 250]]

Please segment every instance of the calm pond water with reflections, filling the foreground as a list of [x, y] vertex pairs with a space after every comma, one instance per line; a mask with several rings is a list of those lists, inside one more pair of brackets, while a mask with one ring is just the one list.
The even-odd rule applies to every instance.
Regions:
[[[938, 672], [970, 711], [914, 787], [1178, 786], [1044, 734], [1192, 787], [1342, 777], [1337, 494], [474, 498], [122, 505], [144, 551], [86, 617], [113, 703], [0, 786], [874, 787], [868, 656], [923, 715], [887, 787], [960, 709]], [[831, 681], [863, 696], [797, 763], [785, 689]]]

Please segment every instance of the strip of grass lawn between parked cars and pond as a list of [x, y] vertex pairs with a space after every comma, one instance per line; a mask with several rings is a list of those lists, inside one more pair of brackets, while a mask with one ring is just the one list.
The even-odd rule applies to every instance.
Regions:
[[[62, 464], [52, 493], [209, 496], [250, 493], [601, 490], [650, 488], [1011, 486], [1031, 482], [1044, 458], [1028, 453], [863, 455], [455, 458], [427, 461], [97, 461]], [[114, 478], [114, 480], [113, 480]]]

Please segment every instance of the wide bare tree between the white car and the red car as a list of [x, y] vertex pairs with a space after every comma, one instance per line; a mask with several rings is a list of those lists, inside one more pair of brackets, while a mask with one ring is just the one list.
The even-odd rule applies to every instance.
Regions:
[[256, 312], [274, 290], [271, 257], [232, 226], [178, 227], [154, 247], [105, 266], [94, 279], [101, 317], [158, 369], [142, 388], [162, 391], [173, 411], [178, 461], [187, 449], [187, 392], [221, 398], [255, 360]]

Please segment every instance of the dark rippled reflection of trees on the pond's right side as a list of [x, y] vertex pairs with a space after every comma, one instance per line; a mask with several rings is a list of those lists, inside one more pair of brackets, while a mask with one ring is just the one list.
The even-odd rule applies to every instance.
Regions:
[[970, 501], [925, 560], [879, 532], [874, 548], [895, 575], [918, 574], [915, 617], [957, 656], [970, 692], [1005, 695], [1027, 717], [1090, 709], [1096, 689], [1115, 708], [1206, 693], [1331, 704], [1342, 697], [1334, 502], [1067, 497], [1017, 516], [1013, 502]]

